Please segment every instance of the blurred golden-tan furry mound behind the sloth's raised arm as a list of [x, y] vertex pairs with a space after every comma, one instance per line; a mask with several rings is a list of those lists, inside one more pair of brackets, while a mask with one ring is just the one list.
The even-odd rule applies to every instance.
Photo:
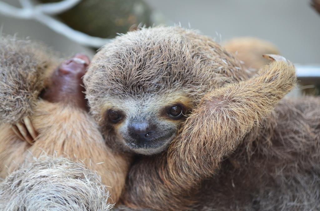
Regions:
[[[258, 70], [270, 61], [263, 58], [263, 54], [280, 54], [279, 50], [272, 43], [252, 37], [239, 37], [229, 40], [223, 46], [249, 69]], [[253, 71], [254, 72], [254, 71]]]

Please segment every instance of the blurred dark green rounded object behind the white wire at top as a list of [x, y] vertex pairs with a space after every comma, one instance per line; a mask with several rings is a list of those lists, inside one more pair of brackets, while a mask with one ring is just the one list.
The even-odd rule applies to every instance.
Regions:
[[[39, 0], [42, 3], [61, 0]], [[113, 38], [140, 23], [150, 25], [151, 9], [143, 0], [82, 0], [60, 18], [71, 28], [91, 36]]]

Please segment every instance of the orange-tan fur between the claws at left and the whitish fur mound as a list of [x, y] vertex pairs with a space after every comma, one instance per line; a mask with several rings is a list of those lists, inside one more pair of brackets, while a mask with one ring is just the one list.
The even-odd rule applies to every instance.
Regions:
[[32, 122], [39, 132], [32, 146], [20, 141], [10, 125], [1, 126], [2, 177], [16, 169], [26, 157], [32, 159], [44, 153], [65, 156], [82, 161], [88, 169], [97, 171], [102, 183], [109, 186], [110, 203], [118, 201], [130, 159], [105, 145], [93, 119], [85, 111], [39, 101]]

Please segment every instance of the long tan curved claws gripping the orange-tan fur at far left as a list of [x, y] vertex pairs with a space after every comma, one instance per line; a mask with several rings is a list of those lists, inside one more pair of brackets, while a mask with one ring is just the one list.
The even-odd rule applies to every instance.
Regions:
[[28, 117], [23, 118], [23, 122], [12, 125], [12, 130], [21, 140], [28, 142], [30, 145], [34, 143], [37, 137], [37, 132]]

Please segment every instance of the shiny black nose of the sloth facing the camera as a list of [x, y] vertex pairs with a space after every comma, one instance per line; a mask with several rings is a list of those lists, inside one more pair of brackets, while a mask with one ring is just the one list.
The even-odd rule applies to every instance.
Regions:
[[147, 122], [134, 122], [129, 126], [129, 133], [138, 142], [148, 141], [155, 135], [155, 126]]

